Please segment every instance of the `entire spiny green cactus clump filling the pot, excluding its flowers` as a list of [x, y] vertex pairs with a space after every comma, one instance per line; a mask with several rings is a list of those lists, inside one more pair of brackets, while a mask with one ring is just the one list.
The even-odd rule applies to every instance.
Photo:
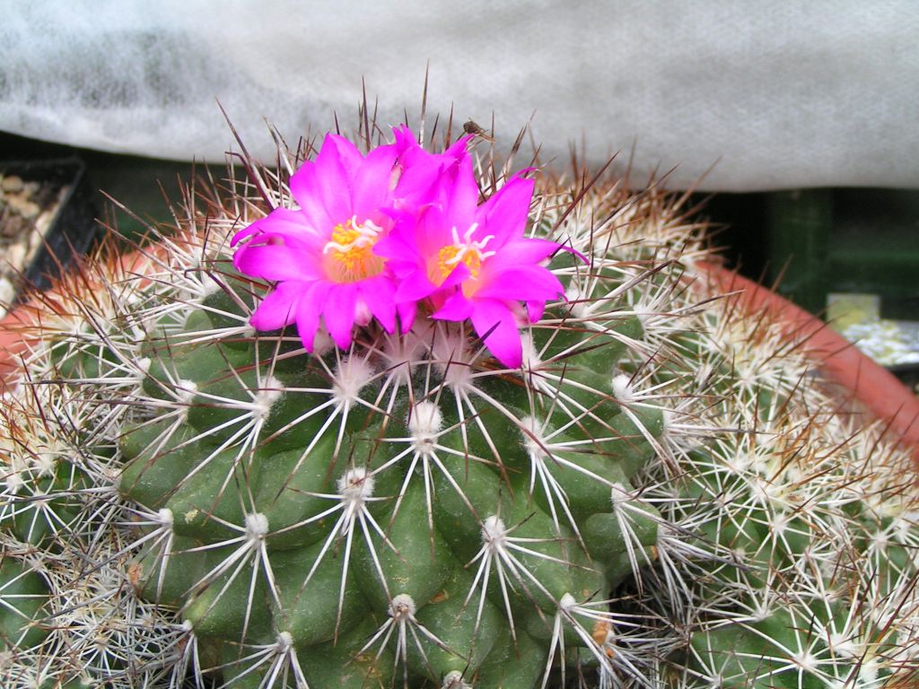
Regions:
[[[910, 457], [837, 412], [776, 323], [710, 293], [685, 198], [543, 174], [527, 237], [564, 247], [539, 268], [563, 296], [520, 325], [519, 362], [424, 306], [343, 347], [255, 330], [278, 287], [233, 261], [311, 155], [190, 188], [158, 243], [65, 277], [23, 326], [9, 685], [913, 677]], [[483, 198], [512, 166], [480, 156]]]

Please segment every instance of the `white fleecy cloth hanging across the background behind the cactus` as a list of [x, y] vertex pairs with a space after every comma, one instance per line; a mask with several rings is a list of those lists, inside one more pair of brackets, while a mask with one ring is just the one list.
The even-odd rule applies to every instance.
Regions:
[[115, 152], [271, 159], [361, 79], [378, 120], [428, 111], [501, 141], [532, 116], [543, 159], [686, 187], [919, 186], [916, 0], [5, 0], [0, 130]]

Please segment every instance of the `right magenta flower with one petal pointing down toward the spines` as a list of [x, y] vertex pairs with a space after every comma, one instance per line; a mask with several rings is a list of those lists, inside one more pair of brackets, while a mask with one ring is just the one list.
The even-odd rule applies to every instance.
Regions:
[[441, 175], [419, 216], [400, 220], [376, 250], [398, 277], [398, 302], [429, 299], [433, 318], [471, 320], [492, 354], [516, 368], [523, 358], [518, 327], [527, 316], [538, 321], [546, 301], [563, 294], [542, 265], [561, 245], [523, 236], [532, 180], [516, 176], [480, 206], [471, 160], [457, 165], [455, 176]]

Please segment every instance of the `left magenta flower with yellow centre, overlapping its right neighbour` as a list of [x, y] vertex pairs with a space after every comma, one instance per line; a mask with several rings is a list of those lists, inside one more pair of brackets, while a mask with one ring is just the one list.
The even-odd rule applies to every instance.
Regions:
[[395, 329], [395, 284], [374, 246], [394, 220], [397, 160], [404, 141], [362, 155], [343, 137], [328, 134], [314, 163], [290, 177], [299, 209], [274, 209], [233, 237], [247, 243], [233, 256], [240, 272], [278, 284], [252, 314], [257, 330], [296, 322], [312, 352], [320, 317], [339, 347], [354, 325], [376, 318]]

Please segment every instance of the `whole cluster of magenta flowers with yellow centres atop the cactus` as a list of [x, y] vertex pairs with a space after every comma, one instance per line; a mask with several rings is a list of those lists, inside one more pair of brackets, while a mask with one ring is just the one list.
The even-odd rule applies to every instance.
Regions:
[[544, 265], [561, 245], [523, 235], [533, 182], [516, 176], [480, 206], [470, 138], [429, 153], [407, 127], [394, 134], [366, 156], [327, 135], [290, 178], [299, 208], [275, 209], [233, 237], [246, 240], [233, 265], [276, 283], [252, 324], [296, 323], [312, 352], [322, 321], [344, 349], [372, 319], [392, 333], [398, 314], [410, 329], [425, 301], [434, 318], [471, 320], [499, 361], [519, 367], [518, 328], [563, 294]]

